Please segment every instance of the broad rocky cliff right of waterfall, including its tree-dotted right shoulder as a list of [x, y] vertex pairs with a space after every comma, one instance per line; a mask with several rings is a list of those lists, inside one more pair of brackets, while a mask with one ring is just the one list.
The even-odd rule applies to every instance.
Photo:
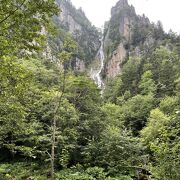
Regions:
[[111, 9], [110, 21], [105, 24], [106, 77], [115, 77], [121, 73], [126, 55], [141, 56], [153, 46], [156, 29], [145, 15], [137, 15], [127, 0], [119, 0]]

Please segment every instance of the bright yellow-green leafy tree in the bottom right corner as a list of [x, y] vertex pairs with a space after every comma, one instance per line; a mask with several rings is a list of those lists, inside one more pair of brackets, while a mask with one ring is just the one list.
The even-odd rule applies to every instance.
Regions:
[[157, 179], [179, 179], [179, 112], [167, 116], [159, 109], [151, 112], [142, 139], [153, 153], [151, 169]]

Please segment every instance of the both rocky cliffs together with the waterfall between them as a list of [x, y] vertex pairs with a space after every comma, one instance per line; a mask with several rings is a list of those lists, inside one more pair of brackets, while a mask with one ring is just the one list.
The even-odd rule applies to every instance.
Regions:
[[93, 64], [88, 74], [98, 87], [103, 88], [103, 81], [121, 73], [129, 54], [141, 57], [144, 51], [149, 51], [160, 43], [160, 39], [156, 40], [156, 31], [162, 31], [161, 27], [150, 23], [145, 15], [137, 15], [127, 0], [119, 0], [112, 8], [111, 18], [104, 26], [102, 38], [102, 33], [91, 25], [82, 9], [77, 10], [67, 0], [57, 2], [62, 12], [55, 18], [55, 22], [69, 31], [79, 46], [79, 55], [73, 60], [74, 69], [83, 72]]

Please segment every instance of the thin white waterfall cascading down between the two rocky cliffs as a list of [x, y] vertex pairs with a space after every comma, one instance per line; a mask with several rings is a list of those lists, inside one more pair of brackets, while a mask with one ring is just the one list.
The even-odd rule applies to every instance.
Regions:
[[[101, 77], [101, 72], [104, 67], [104, 51], [103, 51], [103, 38], [101, 39], [101, 46], [97, 54], [98, 61], [100, 61], [98, 64], [98, 67], [96, 70], [93, 70], [91, 68], [91, 78], [95, 81], [97, 86], [103, 91], [104, 89], [104, 82]], [[101, 92], [102, 93], [102, 92]]]

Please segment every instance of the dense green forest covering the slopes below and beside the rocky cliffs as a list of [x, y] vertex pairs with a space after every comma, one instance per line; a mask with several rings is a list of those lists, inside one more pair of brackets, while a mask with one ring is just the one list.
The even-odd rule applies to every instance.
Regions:
[[101, 95], [72, 68], [79, 45], [60, 11], [0, 1], [0, 180], [180, 179], [180, 36], [156, 29], [160, 45], [129, 53]]

